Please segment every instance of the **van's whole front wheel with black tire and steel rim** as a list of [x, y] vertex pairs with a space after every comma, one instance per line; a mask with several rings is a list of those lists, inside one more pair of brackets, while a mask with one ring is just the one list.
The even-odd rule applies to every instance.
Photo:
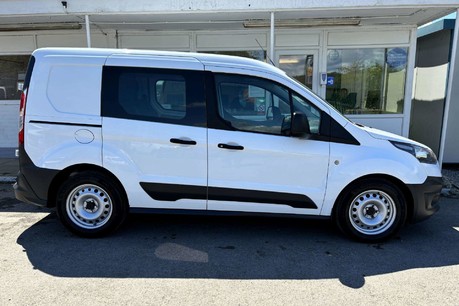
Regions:
[[407, 216], [400, 189], [385, 179], [368, 179], [350, 186], [338, 200], [334, 219], [338, 228], [361, 242], [380, 242], [396, 235]]

